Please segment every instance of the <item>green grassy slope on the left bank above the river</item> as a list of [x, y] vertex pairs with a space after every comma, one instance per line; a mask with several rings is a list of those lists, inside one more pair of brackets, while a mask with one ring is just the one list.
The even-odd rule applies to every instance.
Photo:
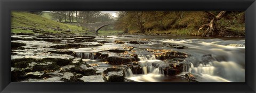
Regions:
[[[46, 16], [46, 15], [44, 15]], [[11, 27], [18, 29], [20, 27], [26, 27], [26, 28], [34, 28], [34, 29], [40, 29], [42, 32], [49, 32], [49, 33], [67, 33], [63, 30], [71, 30], [71, 33], [84, 33], [85, 31], [82, 29], [82, 27], [78, 26], [70, 26], [68, 24], [59, 23], [56, 21], [53, 21], [48, 18], [44, 18], [40, 15], [31, 14], [28, 12], [12, 12], [12, 23]], [[56, 30], [56, 29], [62, 29], [62, 30]], [[22, 31], [20, 30], [12, 30], [12, 32], [32, 32], [32, 31]]]

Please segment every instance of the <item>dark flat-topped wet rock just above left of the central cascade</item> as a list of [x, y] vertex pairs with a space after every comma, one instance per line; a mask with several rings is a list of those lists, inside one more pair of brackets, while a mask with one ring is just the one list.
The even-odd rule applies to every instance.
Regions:
[[107, 61], [109, 64], [131, 64], [135, 61], [134, 57], [110, 56]]

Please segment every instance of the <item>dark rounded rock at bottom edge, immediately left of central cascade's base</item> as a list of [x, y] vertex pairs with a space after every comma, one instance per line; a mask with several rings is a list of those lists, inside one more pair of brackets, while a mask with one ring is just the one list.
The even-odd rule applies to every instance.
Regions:
[[117, 67], [108, 68], [102, 75], [105, 82], [124, 82], [124, 73]]

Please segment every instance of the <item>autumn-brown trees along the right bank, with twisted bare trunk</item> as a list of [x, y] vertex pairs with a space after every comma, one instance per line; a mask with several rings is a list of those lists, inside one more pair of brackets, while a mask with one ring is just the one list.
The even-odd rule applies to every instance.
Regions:
[[122, 11], [118, 12], [116, 28], [130, 33], [244, 36], [244, 22], [241, 11]]

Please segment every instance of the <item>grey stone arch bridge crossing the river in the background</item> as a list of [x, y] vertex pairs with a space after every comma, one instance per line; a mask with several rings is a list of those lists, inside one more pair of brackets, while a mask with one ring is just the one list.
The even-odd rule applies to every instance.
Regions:
[[109, 25], [114, 25], [114, 24], [115, 24], [114, 21], [106, 21], [106, 22], [96, 22], [96, 23], [81, 23], [81, 26], [89, 29], [88, 31], [98, 33], [98, 31], [101, 28], [109, 26]]

